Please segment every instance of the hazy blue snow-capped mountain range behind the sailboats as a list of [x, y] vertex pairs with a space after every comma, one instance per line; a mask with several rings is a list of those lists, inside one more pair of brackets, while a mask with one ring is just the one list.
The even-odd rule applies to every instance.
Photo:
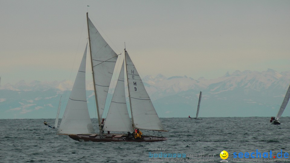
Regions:
[[[195, 117], [199, 91], [202, 91], [199, 117], [271, 117], [276, 116], [289, 87], [290, 71], [237, 70], [210, 80], [167, 78], [159, 74], [145, 76], [143, 83], [159, 117]], [[60, 96], [63, 96], [62, 117], [72, 86], [69, 80], [30, 83], [21, 80], [15, 85], [1, 85], [0, 119], [55, 118]], [[89, 113], [95, 118], [92, 82], [86, 83], [86, 89]], [[282, 116], [289, 114], [287, 106]]]

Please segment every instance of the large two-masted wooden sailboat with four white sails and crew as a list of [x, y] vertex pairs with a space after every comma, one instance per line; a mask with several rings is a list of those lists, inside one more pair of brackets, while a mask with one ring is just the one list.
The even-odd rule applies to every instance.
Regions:
[[[100, 35], [87, 13], [89, 53], [92, 67], [95, 102], [98, 115], [99, 133], [95, 133], [89, 116], [85, 94], [85, 61], [87, 46], [74, 82], [66, 110], [63, 114], [60, 127], [56, 134], [68, 135], [77, 141], [92, 142], [156, 142], [164, 141], [163, 136], [143, 136], [141, 139], [130, 138], [129, 132], [134, 129], [166, 131], [153, 107], [143, 82], [130, 59], [126, 48], [124, 49], [123, 63], [116, 83], [115, 91], [108, 110], [105, 124], [101, 127], [101, 119], [105, 108], [111, 78], [117, 55], [104, 38]], [[115, 69], [116, 70], [116, 69]], [[117, 72], [115, 72], [117, 73]], [[125, 96], [125, 80], [129, 95], [129, 110]], [[102, 131], [127, 132], [128, 134], [103, 134]]]

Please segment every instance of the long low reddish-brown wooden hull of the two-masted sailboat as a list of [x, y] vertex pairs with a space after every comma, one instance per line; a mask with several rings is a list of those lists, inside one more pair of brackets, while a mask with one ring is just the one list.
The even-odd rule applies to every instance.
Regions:
[[77, 135], [69, 135], [70, 138], [79, 141], [79, 142], [160, 142], [167, 140], [165, 137], [159, 136], [142, 136], [141, 139], [127, 139], [124, 134], [103, 134], [103, 138], [100, 137], [99, 134], [77, 134]]

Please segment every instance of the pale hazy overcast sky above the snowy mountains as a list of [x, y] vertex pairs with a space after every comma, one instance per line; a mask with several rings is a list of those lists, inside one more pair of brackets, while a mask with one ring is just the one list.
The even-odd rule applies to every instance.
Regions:
[[1, 83], [74, 80], [87, 11], [116, 53], [126, 42], [143, 77], [290, 70], [288, 0], [0, 0]]

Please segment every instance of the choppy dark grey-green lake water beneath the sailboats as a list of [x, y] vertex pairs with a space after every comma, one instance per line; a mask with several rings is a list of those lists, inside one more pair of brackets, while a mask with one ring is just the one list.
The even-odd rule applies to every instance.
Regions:
[[[169, 139], [146, 143], [77, 142], [68, 136], [55, 135], [56, 129], [43, 125], [44, 120], [54, 123], [53, 119], [0, 120], [0, 162], [150, 162], [149, 159], [156, 159], [154, 156], [161, 152], [186, 155], [179, 158], [184, 161], [176, 162], [192, 162], [194, 159], [199, 159], [197, 162], [209, 161], [205, 159], [219, 162], [223, 150], [229, 153], [227, 161], [247, 162], [234, 161], [233, 153], [251, 153], [257, 149], [262, 154], [270, 150], [273, 155], [281, 150], [290, 153], [290, 117], [282, 117], [281, 125], [272, 125], [269, 117], [161, 118], [169, 132], [144, 130], [143, 134], [162, 135]], [[97, 131], [96, 120], [92, 119], [92, 122]], [[165, 151], [152, 150], [155, 148]], [[150, 154], [154, 155], [153, 158], [149, 157]], [[159, 161], [162, 159], [163, 162], [172, 162], [172, 158], [166, 161], [167, 158], [162, 157]], [[260, 159], [262, 161], [258, 162], [275, 162], [267, 161], [263, 156]]]

